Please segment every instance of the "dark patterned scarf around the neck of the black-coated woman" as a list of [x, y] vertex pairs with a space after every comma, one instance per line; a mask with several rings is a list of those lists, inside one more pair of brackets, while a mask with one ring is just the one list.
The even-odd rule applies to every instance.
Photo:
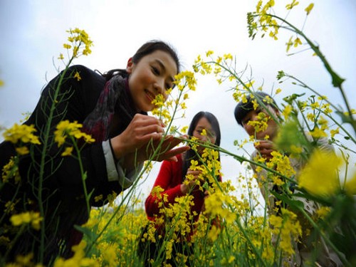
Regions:
[[[119, 135], [130, 124], [132, 117], [137, 113], [130, 95], [127, 78], [114, 75], [100, 93], [98, 103], [83, 122], [85, 132], [92, 135], [95, 142], [103, 142], [108, 138]], [[146, 112], [141, 112], [147, 114]], [[119, 115], [118, 127], [110, 132], [114, 114]]]

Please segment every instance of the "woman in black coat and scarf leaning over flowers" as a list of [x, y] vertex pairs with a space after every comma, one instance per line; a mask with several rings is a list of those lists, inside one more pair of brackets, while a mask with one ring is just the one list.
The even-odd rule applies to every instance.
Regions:
[[[13, 214], [42, 208], [46, 229], [44, 235], [28, 229], [21, 238], [16, 237], [19, 241], [15, 244], [1, 247], [0, 258], [38, 252], [38, 248], [44, 251], [38, 256], [43, 263], [50, 263], [58, 254], [66, 258], [72, 255], [71, 247], [83, 236], [74, 226], [88, 221], [88, 204], [102, 206], [109, 194], [119, 194], [130, 187], [143, 162], [162, 140], [163, 123], [147, 112], [155, 108], [152, 100], [156, 95], [167, 98], [166, 90], [174, 86], [177, 73], [177, 53], [162, 41], [150, 41], [128, 60], [125, 70], [99, 75], [84, 66], [73, 66], [48, 83], [25, 124], [35, 125], [41, 144], [46, 142], [49, 124], [51, 145], [45, 152], [43, 145], [34, 146], [31, 156], [19, 157], [21, 182], [4, 183], [0, 197], [0, 213], [4, 214], [0, 230], [7, 233], [10, 241], [16, 236], [9, 223]], [[53, 118], [48, 117], [51, 108]], [[75, 157], [62, 157], [63, 146], [59, 147], [52, 135], [58, 123], [66, 120], [83, 124], [84, 132], [95, 139], [93, 144], [79, 140], [80, 155]], [[179, 142], [166, 137], [163, 152], [156, 160], [176, 159], [175, 155], [188, 149], [172, 149]], [[11, 142], [1, 143], [1, 169], [16, 155], [15, 148]], [[85, 192], [90, 195], [89, 200]], [[16, 204], [15, 209], [7, 209], [9, 202]]]

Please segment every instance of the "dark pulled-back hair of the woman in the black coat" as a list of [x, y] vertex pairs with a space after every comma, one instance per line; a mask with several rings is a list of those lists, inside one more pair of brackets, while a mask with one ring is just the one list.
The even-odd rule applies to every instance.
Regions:
[[[155, 51], [163, 51], [169, 54], [169, 56], [172, 56], [174, 62], [177, 65], [177, 73], [180, 71], [180, 63], [179, 63], [179, 58], [177, 55], [177, 52], [169, 46], [169, 44], [164, 43], [164, 41], [157, 41], [157, 40], [152, 40], [148, 41], [147, 43], [144, 43], [138, 50], [136, 51], [135, 55], [132, 56], [132, 62], [137, 64], [140, 62], [140, 60], [147, 56], [150, 55], [151, 53], [154, 53]], [[112, 76], [120, 74], [124, 77], [128, 76], [128, 73], [125, 69], [117, 68], [114, 70], [109, 70], [107, 73], [104, 73], [103, 76], [106, 78], [106, 80], [110, 80]]]

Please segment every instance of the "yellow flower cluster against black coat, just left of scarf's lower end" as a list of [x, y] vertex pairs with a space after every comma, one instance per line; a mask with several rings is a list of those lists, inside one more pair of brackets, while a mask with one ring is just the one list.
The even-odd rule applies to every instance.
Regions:
[[85, 132], [80, 132], [80, 128], [83, 127], [78, 122], [69, 122], [69, 120], [63, 120], [58, 123], [56, 131], [54, 132], [54, 141], [58, 143], [58, 147], [61, 147], [66, 142], [67, 137], [75, 137], [76, 139], [84, 138], [85, 142], [91, 143], [95, 140]]

